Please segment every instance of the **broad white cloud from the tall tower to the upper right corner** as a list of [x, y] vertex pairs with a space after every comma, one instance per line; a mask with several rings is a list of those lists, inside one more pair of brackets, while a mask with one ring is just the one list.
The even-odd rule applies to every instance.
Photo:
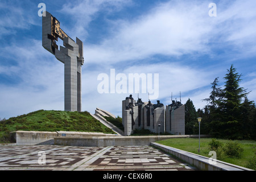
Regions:
[[220, 2], [217, 17], [209, 17], [207, 2], [162, 3], [133, 22], [117, 20], [113, 23], [114, 36], [106, 37], [99, 45], [87, 45], [87, 59], [111, 64], [155, 54], [212, 54], [213, 49], [221, 47], [229, 58], [255, 55], [251, 41], [256, 38], [255, 6], [255, 1], [235, 1], [231, 5]]

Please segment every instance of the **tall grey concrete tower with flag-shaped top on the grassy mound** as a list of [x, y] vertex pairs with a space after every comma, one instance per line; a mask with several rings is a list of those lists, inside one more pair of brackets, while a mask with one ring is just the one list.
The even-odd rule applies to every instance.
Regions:
[[[60, 22], [46, 11], [42, 21], [42, 44], [56, 59], [64, 63], [64, 102], [66, 111], [81, 111], [81, 67], [84, 64], [83, 43], [69, 38]], [[56, 41], [63, 40], [63, 46]]]

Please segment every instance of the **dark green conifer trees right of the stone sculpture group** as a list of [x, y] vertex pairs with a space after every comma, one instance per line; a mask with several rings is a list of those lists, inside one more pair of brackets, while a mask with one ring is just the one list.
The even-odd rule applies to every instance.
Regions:
[[197, 117], [202, 117], [201, 134], [210, 134], [216, 138], [256, 139], [256, 107], [249, 101], [246, 89], [240, 87], [240, 74], [231, 65], [225, 75], [224, 88], [218, 85], [218, 77], [212, 84], [212, 92], [204, 109], [196, 111], [193, 102], [185, 104], [185, 134], [198, 134]]

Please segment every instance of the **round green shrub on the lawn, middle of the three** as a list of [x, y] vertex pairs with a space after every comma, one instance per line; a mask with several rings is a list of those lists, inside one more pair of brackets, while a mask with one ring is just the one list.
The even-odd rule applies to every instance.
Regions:
[[225, 147], [223, 148], [225, 154], [232, 158], [241, 158], [243, 148], [241, 147], [241, 144], [238, 142], [228, 142], [225, 144]]

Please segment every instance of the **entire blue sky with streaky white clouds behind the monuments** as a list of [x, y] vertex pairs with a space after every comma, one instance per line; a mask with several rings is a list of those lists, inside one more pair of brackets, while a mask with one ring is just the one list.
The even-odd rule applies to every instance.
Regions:
[[[210, 17], [209, 3], [217, 16]], [[130, 93], [98, 93], [100, 73], [158, 73], [159, 97], [196, 109], [207, 103], [210, 83], [233, 64], [256, 100], [256, 1], [5, 1], [0, 2], [0, 118], [31, 111], [64, 110], [64, 64], [42, 47], [38, 4], [84, 42], [82, 110], [121, 115]], [[61, 42], [58, 43], [59, 45]], [[62, 46], [62, 45], [61, 45]], [[137, 92], [131, 93], [137, 98]], [[139, 94], [143, 101], [147, 94]], [[156, 102], [156, 100], [152, 100]]]

